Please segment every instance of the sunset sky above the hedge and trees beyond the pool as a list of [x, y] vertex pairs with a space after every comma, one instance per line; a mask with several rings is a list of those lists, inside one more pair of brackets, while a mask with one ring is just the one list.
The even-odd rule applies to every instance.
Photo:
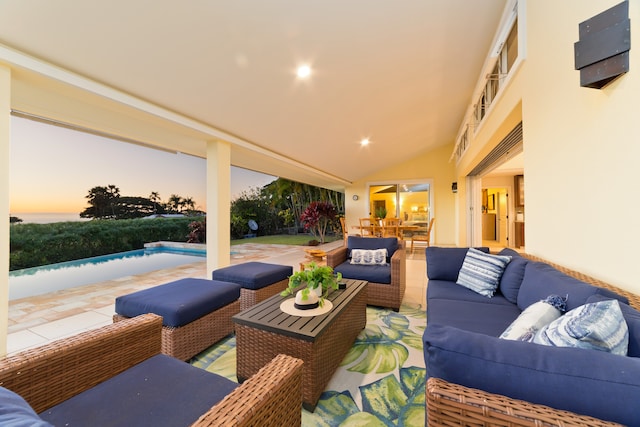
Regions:
[[[156, 191], [166, 202], [177, 194], [206, 210], [206, 164], [197, 157], [12, 117], [10, 164], [12, 214], [80, 213], [91, 188], [111, 184], [122, 196], [148, 197]], [[232, 167], [232, 198], [273, 179]]]

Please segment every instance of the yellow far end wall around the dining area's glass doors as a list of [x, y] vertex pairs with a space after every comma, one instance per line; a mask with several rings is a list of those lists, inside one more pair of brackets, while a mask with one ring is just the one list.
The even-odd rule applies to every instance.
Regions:
[[[433, 243], [437, 245], [453, 245], [456, 241], [456, 194], [451, 191], [451, 183], [455, 181], [455, 168], [449, 157], [453, 151], [453, 143], [436, 148], [414, 157], [404, 163], [376, 172], [366, 178], [354, 182], [345, 190], [345, 217], [349, 231], [357, 225], [358, 218], [369, 216], [367, 186], [371, 183], [393, 181], [402, 183], [411, 180], [431, 180], [433, 183], [433, 216], [436, 218], [432, 234]], [[353, 196], [358, 200], [354, 201]]]

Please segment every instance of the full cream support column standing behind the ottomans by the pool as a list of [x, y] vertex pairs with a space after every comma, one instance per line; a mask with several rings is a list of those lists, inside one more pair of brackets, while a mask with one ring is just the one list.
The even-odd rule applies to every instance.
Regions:
[[207, 276], [230, 264], [231, 145], [207, 142]]

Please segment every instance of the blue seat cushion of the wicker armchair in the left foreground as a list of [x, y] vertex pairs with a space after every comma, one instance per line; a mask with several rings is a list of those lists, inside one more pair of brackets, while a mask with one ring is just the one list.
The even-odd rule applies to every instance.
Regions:
[[160, 354], [40, 416], [56, 426], [188, 426], [237, 386]]

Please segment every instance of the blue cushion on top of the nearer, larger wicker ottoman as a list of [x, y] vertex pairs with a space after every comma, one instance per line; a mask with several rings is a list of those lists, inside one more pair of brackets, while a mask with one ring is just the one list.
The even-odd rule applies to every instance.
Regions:
[[191, 323], [240, 298], [240, 285], [218, 280], [180, 279], [116, 298], [116, 313], [162, 316], [164, 326]]

